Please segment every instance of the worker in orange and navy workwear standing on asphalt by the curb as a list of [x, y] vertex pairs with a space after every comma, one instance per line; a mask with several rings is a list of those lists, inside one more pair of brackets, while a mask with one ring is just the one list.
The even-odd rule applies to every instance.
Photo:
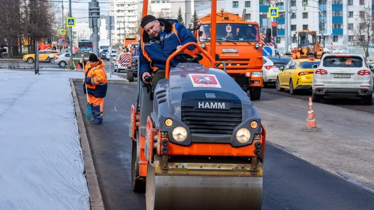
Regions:
[[[94, 116], [91, 120], [92, 125], [100, 125], [102, 123], [104, 98], [108, 89], [107, 72], [104, 67], [104, 62], [98, 59], [95, 54], [91, 54], [89, 62], [87, 62], [84, 69], [84, 84], [87, 86], [88, 101]], [[86, 90], [86, 88], [84, 89]]]

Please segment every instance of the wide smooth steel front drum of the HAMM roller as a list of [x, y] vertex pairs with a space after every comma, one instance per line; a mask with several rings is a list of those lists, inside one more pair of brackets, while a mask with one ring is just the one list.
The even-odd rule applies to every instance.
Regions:
[[147, 210], [261, 209], [262, 164], [254, 168], [251, 164], [169, 163], [168, 166], [172, 168], [165, 173], [157, 161], [155, 166], [148, 165]]

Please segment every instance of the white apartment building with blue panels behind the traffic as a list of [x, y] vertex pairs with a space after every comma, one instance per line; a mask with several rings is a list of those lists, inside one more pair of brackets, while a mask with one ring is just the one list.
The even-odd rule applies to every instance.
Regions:
[[[365, 14], [365, 9], [374, 9], [374, 0], [288, 0], [288, 8], [284, 7], [287, 0], [278, 0], [278, 18], [268, 17], [268, 8], [271, 7], [268, 0], [246, 1], [218, 1], [217, 10], [223, 8], [227, 12], [242, 15], [245, 9], [246, 19], [257, 21], [264, 32], [266, 25], [276, 21], [278, 30], [275, 37], [279, 52], [284, 52], [285, 38], [288, 38], [288, 47], [294, 46], [296, 31], [317, 31], [319, 40], [330, 46], [330, 35], [333, 34], [333, 44], [354, 44], [354, 31], [358, 30], [360, 17]], [[210, 3], [196, 7], [199, 16], [210, 13]], [[305, 6], [304, 6], [305, 5]], [[208, 12], [209, 11], [209, 12]], [[288, 15], [288, 33], [285, 34], [285, 18]], [[322, 24], [323, 22], [323, 24]], [[323, 28], [322, 28], [323, 27]], [[323, 35], [323, 38], [322, 38]]]

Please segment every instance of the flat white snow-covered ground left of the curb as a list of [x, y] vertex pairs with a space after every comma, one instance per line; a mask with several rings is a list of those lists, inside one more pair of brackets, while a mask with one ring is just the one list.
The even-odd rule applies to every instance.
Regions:
[[69, 81], [83, 77], [0, 70], [0, 209], [90, 209]]

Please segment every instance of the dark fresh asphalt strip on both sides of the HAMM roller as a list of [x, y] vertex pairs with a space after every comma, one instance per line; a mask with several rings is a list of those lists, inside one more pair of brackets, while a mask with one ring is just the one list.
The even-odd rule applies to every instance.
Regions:
[[[82, 85], [75, 82], [75, 86], [80, 109], [86, 113]], [[271, 100], [280, 96], [265, 90], [262, 97]], [[85, 120], [106, 209], [146, 209], [144, 194], [131, 190], [132, 143], [128, 125], [135, 98], [136, 82], [109, 83], [103, 124], [92, 126]], [[264, 170], [262, 209], [373, 209], [374, 193], [269, 143], [265, 149]]]

